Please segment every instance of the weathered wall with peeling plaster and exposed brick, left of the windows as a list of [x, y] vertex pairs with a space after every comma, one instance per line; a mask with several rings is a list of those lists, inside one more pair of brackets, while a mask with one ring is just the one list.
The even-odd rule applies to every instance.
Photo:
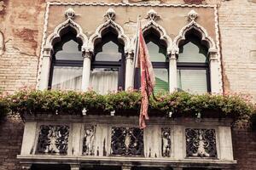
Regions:
[[0, 5], [5, 48], [0, 55], [0, 88], [12, 92], [25, 86], [35, 87], [45, 3], [5, 0]]

